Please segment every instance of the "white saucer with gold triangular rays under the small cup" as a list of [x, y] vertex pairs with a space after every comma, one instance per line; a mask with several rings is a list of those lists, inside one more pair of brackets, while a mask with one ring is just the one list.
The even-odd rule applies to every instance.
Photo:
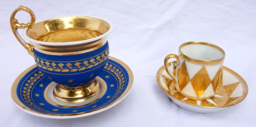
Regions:
[[[171, 74], [176, 72], [176, 67], [174, 67], [176, 65], [176, 61], [168, 63]], [[220, 112], [230, 106], [239, 104], [248, 93], [248, 87], [244, 79], [226, 66], [223, 66], [221, 79], [215, 95], [207, 100], [192, 100], [180, 95], [176, 91], [172, 81], [173, 78], [167, 74], [165, 67], [162, 66], [157, 71], [157, 83], [159, 87], [179, 107], [195, 113]]]

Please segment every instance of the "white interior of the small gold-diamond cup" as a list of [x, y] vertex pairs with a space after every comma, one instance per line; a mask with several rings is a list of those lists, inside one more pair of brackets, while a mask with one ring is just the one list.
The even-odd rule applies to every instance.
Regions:
[[201, 61], [215, 61], [224, 55], [220, 50], [203, 44], [189, 44], [181, 47], [180, 51], [190, 58]]

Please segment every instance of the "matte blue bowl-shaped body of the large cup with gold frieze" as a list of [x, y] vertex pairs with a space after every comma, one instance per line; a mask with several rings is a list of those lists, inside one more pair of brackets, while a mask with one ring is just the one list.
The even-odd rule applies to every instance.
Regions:
[[34, 50], [38, 68], [52, 81], [66, 87], [87, 84], [102, 72], [108, 61], [108, 42], [99, 49], [76, 55], [49, 55]]

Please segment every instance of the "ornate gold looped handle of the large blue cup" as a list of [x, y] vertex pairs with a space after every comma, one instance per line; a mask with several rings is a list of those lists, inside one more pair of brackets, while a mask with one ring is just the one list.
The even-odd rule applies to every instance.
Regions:
[[[18, 23], [18, 20], [15, 19], [15, 14], [18, 11], [28, 12], [30, 17], [31, 17], [31, 21], [29, 23], [26, 23], [26, 24], [25, 23]], [[21, 38], [20, 34], [17, 32], [17, 29], [18, 28], [20, 28], [20, 29], [24, 29], [24, 28], [30, 29], [32, 27], [32, 25], [34, 25], [34, 23], [35, 23], [35, 14], [29, 8], [20, 5], [17, 9], [15, 9], [12, 12], [12, 15], [11, 15], [11, 18], [10, 18], [10, 24], [11, 24], [12, 32], [13, 32], [14, 36], [16, 37], [16, 39], [28, 51], [29, 55], [31, 55], [31, 56], [33, 56], [34, 46], [30, 43], [27, 43], [23, 38]]]

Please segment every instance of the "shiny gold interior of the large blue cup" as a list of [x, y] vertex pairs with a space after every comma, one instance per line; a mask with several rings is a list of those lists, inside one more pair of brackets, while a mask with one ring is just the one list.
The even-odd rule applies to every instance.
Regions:
[[27, 36], [44, 42], [73, 42], [105, 34], [110, 24], [105, 20], [87, 16], [58, 17], [35, 23]]

